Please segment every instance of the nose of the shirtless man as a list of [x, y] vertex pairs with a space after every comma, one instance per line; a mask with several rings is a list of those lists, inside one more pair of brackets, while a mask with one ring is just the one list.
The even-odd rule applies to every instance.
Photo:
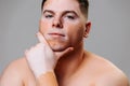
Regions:
[[52, 27], [62, 29], [63, 28], [62, 19], [60, 17], [54, 17], [53, 23], [52, 23]]

